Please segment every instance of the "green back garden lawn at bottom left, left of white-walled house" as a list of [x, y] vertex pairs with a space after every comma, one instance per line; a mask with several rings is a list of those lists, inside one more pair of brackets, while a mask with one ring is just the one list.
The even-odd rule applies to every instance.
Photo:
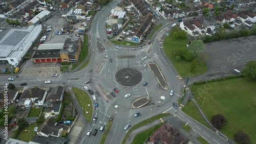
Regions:
[[[33, 135], [36, 134], [36, 132], [34, 131], [35, 127], [38, 126], [36, 124], [28, 125], [27, 128], [25, 128], [18, 134], [17, 139], [29, 142], [30, 140], [32, 140]], [[30, 132], [25, 132], [25, 130], [29, 130]]]

